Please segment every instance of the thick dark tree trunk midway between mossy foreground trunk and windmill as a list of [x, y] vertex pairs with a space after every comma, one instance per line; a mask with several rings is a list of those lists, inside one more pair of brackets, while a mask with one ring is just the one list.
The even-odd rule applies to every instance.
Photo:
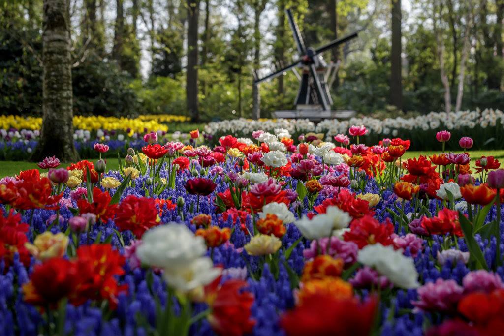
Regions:
[[200, 0], [187, 0], [187, 71], [186, 104], [193, 122], [200, 120], [198, 111], [198, 20]]

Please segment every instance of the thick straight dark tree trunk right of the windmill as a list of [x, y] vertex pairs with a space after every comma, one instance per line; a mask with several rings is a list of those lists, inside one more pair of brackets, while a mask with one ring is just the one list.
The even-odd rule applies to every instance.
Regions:
[[390, 101], [399, 110], [403, 109], [401, 35], [401, 0], [392, 0]]

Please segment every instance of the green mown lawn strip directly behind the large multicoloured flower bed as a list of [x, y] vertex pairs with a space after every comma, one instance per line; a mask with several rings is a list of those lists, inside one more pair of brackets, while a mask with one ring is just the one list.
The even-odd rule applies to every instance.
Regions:
[[[420, 155], [432, 155], [437, 154], [440, 151], [423, 151], [423, 152], [406, 152], [403, 159], [409, 158], [417, 158]], [[474, 167], [474, 163], [476, 159], [479, 159], [482, 155], [484, 156], [494, 156], [496, 159], [499, 159], [501, 162], [504, 161], [504, 150], [500, 151], [470, 151], [469, 154], [473, 158], [471, 161], [472, 167]], [[97, 159], [88, 159], [89, 161], [96, 162]], [[62, 163], [61, 167], [67, 167], [70, 163]], [[25, 162], [25, 161], [0, 161], [0, 178], [4, 176], [14, 176], [18, 174], [21, 170], [27, 169], [36, 169], [37, 165], [33, 162]], [[108, 159], [107, 160], [107, 169], [117, 170], [119, 169], [117, 159]]]

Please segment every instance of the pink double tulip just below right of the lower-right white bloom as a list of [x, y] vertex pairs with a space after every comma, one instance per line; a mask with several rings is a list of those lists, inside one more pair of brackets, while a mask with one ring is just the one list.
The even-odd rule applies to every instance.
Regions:
[[418, 301], [412, 301], [416, 311], [450, 313], [464, 294], [464, 289], [455, 280], [437, 279], [417, 289]]

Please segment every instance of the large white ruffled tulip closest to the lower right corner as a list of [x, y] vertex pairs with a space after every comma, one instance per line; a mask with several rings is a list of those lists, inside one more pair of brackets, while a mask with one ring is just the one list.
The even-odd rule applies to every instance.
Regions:
[[413, 258], [406, 257], [392, 246], [372, 244], [363, 247], [357, 260], [387, 277], [395, 286], [403, 289], [417, 288], [418, 273]]

